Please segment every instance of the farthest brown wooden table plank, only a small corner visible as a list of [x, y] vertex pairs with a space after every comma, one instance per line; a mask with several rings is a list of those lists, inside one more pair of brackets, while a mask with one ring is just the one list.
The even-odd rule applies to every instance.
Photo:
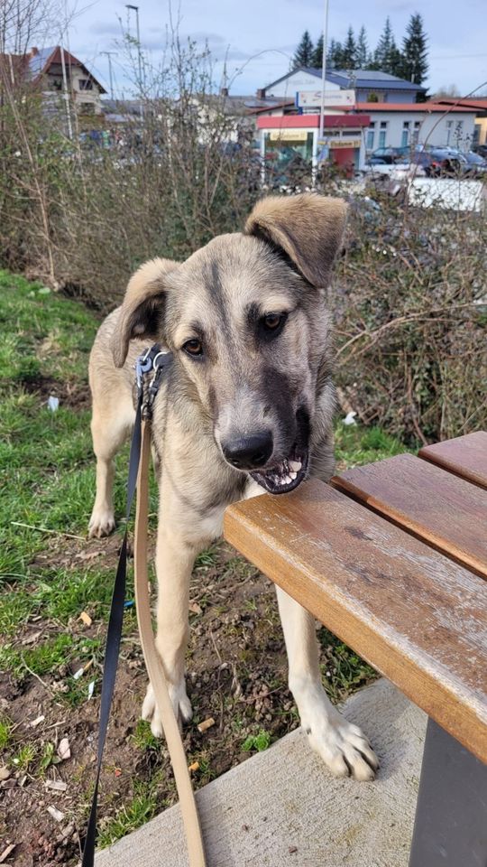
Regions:
[[457, 436], [455, 440], [425, 445], [418, 452], [425, 461], [437, 463], [463, 479], [487, 488], [487, 432]]

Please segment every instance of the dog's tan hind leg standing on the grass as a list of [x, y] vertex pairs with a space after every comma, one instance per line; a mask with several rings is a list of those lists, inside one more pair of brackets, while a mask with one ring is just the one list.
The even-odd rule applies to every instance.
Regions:
[[88, 524], [89, 536], [108, 536], [115, 527], [113, 486], [114, 457], [133, 427], [135, 411], [127, 392], [118, 391], [114, 397], [94, 396], [91, 434], [96, 454], [96, 498]]

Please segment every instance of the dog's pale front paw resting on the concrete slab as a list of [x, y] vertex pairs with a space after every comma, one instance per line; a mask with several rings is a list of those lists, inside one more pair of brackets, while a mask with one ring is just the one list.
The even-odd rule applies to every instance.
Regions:
[[352, 776], [361, 781], [371, 780], [379, 768], [379, 760], [357, 725], [336, 714], [333, 721], [305, 726], [309, 743], [325, 761], [335, 777]]

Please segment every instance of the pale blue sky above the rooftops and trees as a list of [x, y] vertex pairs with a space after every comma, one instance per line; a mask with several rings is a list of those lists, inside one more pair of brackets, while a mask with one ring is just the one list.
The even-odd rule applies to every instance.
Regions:
[[[69, 49], [84, 61], [108, 89], [108, 60], [112, 57], [115, 96], [128, 97], [130, 80], [124, 74], [121, 21], [126, 26], [124, 0], [76, 0], [69, 23]], [[137, 0], [134, 0], [135, 5]], [[323, 30], [324, 0], [138, 0], [142, 51], [153, 66], [161, 60], [172, 14], [183, 40], [190, 36], [202, 48], [207, 42], [214, 60], [216, 86], [226, 70], [232, 94], [253, 94], [289, 70], [289, 61], [302, 33], [315, 41]], [[344, 41], [349, 24], [358, 33], [362, 24], [374, 48], [387, 15], [396, 42], [410, 14], [423, 15], [429, 37], [428, 89], [455, 85], [465, 96], [483, 84], [487, 91], [487, 15], [485, 0], [329, 0], [328, 37]], [[134, 13], [130, 30], [135, 34]], [[59, 42], [55, 34], [53, 42]], [[66, 39], [63, 40], [66, 42]], [[479, 91], [480, 92], [480, 91]]]

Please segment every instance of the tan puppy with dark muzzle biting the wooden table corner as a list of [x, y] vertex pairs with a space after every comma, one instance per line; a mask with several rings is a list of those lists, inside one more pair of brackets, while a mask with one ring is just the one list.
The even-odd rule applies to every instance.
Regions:
[[[160, 491], [156, 644], [180, 721], [188, 588], [195, 557], [222, 534], [225, 507], [293, 490], [334, 468], [335, 391], [326, 288], [346, 206], [315, 193], [257, 202], [243, 233], [183, 262], [156, 258], [131, 278], [101, 325], [89, 362], [96, 499], [90, 536], [115, 527], [113, 459], [133, 427], [133, 364], [151, 342], [173, 353], [156, 397], [152, 440]], [[370, 780], [378, 760], [326, 696], [315, 621], [277, 588], [289, 689], [314, 750], [335, 776]], [[152, 686], [142, 717], [161, 736]]]

